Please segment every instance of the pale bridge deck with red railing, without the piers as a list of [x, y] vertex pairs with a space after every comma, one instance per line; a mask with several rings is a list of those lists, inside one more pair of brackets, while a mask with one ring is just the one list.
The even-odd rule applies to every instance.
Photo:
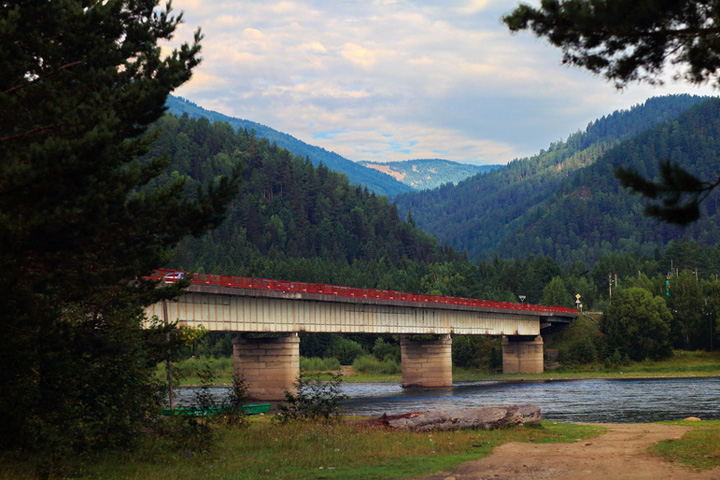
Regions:
[[[159, 271], [156, 278], [168, 273]], [[172, 277], [176, 278], [176, 277]], [[305, 282], [195, 275], [177, 301], [148, 308], [181, 325], [233, 332], [539, 335], [574, 309]]]

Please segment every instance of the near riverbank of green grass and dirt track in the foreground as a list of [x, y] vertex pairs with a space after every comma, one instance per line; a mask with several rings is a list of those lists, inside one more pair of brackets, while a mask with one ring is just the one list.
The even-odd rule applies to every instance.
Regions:
[[[88, 456], [58, 478], [720, 478], [720, 422], [573, 425], [544, 421], [539, 426], [492, 431], [414, 433], [360, 426], [352, 420], [279, 424], [259, 417], [247, 428], [223, 427], [217, 433], [219, 440], [205, 451], [172, 453], [148, 440], [134, 453]], [[26, 455], [0, 454], [0, 464], [0, 480], [37, 478], [36, 463]]]

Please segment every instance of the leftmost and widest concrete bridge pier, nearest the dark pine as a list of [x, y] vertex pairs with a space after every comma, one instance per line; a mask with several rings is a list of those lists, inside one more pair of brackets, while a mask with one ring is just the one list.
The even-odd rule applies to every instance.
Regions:
[[295, 392], [300, 376], [300, 337], [233, 337], [233, 372], [245, 381], [247, 394], [256, 400], [282, 400]]

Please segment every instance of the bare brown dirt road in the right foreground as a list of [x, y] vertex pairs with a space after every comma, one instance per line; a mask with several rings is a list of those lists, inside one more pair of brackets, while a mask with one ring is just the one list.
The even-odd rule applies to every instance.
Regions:
[[693, 472], [648, 453], [656, 442], [680, 438], [686, 427], [604, 426], [603, 435], [574, 443], [507, 443], [486, 458], [423, 480], [720, 480], [720, 468]]

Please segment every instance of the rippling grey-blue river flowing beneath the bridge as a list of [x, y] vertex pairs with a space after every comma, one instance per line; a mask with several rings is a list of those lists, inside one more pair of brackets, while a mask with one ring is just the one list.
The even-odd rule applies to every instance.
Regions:
[[[227, 389], [214, 388], [223, 396]], [[192, 389], [180, 389], [187, 403]], [[402, 388], [396, 383], [344, 383], [348, 415], [379, 416], [531, 404], [558, 422], [634, 423], [699, 417], [720, 420], [720, 377], [456, 382], [448, 388]]]

